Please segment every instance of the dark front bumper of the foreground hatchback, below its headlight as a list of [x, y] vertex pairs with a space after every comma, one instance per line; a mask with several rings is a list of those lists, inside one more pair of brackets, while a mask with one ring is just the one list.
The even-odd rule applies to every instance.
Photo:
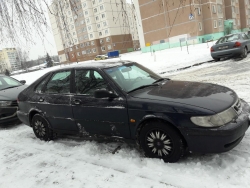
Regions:
[[242, 113], [235, 122], [218, 128], [185, 128], [181, 132], [185, 137], [189, 150], [201, 153], [221, 153], [237, 146], [247, 131], [250, 120], [249, 105], [241, 100]]

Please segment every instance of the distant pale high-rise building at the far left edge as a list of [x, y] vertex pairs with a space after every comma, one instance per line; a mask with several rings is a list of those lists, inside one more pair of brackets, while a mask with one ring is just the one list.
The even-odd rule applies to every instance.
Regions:
[[16, 71], [21, 68], [17, 51], [15, 48], [4, 48], [0, 50], [0, 71], [3, 73], [6, 69]]

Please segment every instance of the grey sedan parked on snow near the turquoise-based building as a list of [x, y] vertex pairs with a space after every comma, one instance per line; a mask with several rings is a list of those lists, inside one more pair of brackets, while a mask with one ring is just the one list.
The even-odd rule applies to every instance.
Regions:
[[245, 33], [237, 33], [221, 37], [211, 47], [211, 56], [215, 61], [225, 57], [247, 57], [250, 50], [250, 39]]

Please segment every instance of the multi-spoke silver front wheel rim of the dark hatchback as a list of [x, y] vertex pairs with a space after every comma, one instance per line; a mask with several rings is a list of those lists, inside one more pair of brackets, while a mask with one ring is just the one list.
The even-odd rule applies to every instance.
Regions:
[[171, 154], [173, 144], [171, 138], [163, 131], [150, 131], [146, 137], [147, 146], [154, 155], [165, 157]]

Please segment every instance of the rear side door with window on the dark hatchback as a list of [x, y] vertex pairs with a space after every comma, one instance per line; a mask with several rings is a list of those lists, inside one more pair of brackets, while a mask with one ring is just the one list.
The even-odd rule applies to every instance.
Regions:
[[58, 131], [78, 131], [71, 108], [71, 70], [54, 73], [36, 88], [36, 108]]

